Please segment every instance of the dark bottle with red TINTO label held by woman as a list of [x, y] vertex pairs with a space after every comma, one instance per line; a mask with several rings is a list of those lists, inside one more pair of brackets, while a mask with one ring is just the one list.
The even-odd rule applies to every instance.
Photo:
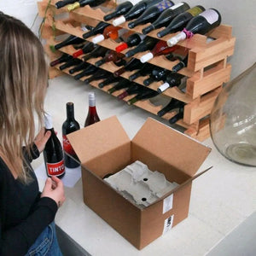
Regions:
[[63, 177], [65, 175], [65, 164], [61, 142], [55, 134], [52, 119], [49, 114], [44, 114], [45, 131], [51, 135], [44, 147], [44, 164], [48, 177]]

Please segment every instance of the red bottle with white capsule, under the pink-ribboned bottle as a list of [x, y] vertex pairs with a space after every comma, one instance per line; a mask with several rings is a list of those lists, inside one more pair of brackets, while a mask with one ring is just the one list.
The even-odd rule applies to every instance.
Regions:
[[173, 51], [175, 51], [178, 48], [178, 46], [169, 47], [166, 44], [166, 41], [160, 40], [157, 44], [155, 44], [154, 48], [148, 52], [147, 54], [141, 56], [140, 60], [145, 63], [151, 59], [153, 59], [155, 56], [159, 55], [167, 55]]

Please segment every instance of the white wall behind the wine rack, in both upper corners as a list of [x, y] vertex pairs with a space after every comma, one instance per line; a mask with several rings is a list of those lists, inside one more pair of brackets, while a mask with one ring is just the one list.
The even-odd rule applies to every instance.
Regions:
[[[0, 10], [26, 23], [32, 31], [38, 33], [37, 0], [0, 0]], [[173, 0], [174, 3], [180, 1]], [[191, 7], [201, 4], [206, 9], [215, 8], [222, 15], [222, 23], [233, 27], [233, 35], [236, 37], [235, 54], [229, 58], [232, 65], [231, 79], [256, 61], [256, 4], [254, 0], [187, 0]]]

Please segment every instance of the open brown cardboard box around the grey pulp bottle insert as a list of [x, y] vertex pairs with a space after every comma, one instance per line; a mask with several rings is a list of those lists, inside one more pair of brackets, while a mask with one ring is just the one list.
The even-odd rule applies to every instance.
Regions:
[[[192, 180], [211, 148], [151, 118], [132, 140], [116, 116], [67, 137], [81, 161], [84, 203], [132, 245], [142, 249], [187, 218]], [[136, 160], [180, 185], [149, 207], [137, 207], [102, 179]]]

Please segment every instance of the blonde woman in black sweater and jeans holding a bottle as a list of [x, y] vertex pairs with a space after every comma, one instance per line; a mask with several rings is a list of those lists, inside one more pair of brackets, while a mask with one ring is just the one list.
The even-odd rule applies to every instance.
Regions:
[[43, 126], [48, 65], [38, 38], [0, 12], [0, 255], [61, 255], [54, 218], [65, 201], [57, 177], [42, 194], [30, 162], [50, 132], [36, 139], [34, 114]]

